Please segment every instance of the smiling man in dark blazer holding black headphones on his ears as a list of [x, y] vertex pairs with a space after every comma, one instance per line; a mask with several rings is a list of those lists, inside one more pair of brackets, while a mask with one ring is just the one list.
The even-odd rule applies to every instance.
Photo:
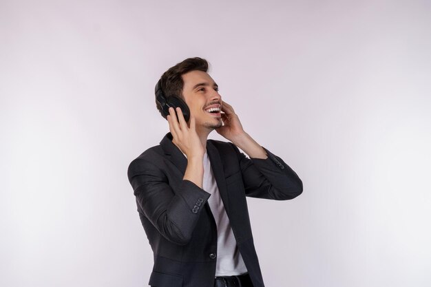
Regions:
[[[154, 252], [149, 285], [263, 287], [246, 196], [290, 200], [302, 181], [242, 129], [207, 70], [191, 58], [162, 75], [156, 105], [170, 133], [129, 165]], [[230, 142], [207, 140], [214, 129]]]

